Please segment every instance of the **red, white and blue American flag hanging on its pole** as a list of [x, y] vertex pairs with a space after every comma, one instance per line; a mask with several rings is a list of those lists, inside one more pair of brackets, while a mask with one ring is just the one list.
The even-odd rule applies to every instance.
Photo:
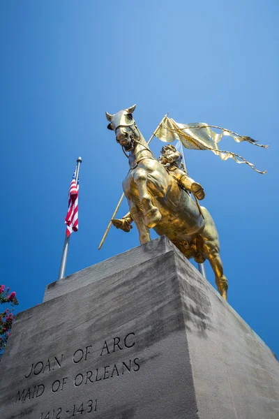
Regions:
[[70, 237], [73, 231], [78, 230], [78, 191], [80, 189], [79, 186], [79, 179], [77, 182], [75, 181], [75, 176], [77, 173], [77, 168], [75, 168], [75, 172], [73, 174], [72, 182], [70, 182], [70, 189], [69, 189], [69, 201], [68, 201], [68, 212], [66, 215], [65, 223], [66, 223], [66, 235]]

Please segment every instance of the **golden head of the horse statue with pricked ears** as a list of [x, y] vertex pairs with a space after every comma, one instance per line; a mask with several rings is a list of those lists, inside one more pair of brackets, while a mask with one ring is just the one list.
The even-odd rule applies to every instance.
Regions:
[[110, 121], [107, 128], [115, 132], [116, 141], [126, 149], [126, 152], [130, 152], [134, 148], [134, 140], [140, 139], [140, 132], [133, 119], [134, 110], [135, 105], [120, 110], [114, 115], [105, 112], [107, 121]]

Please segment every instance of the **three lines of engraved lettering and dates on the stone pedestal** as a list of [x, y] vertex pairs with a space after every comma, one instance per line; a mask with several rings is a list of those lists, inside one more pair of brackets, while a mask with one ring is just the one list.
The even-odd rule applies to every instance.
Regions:
[[[129, 332], [125, 337], [113, 337], [112, 339], [106, 339], [103, 346], [100, 348], [100, 355], [98, 356], [104, 358], [105, 360], [105, 355], [109, 355], [110, 353], [114, 353], [116, 351], [125, 351], [128, 348], [133, 348], [133, 346], [135, 346], [135, 333]], [[75, 365], [85, 365], [84, 362], [90, 359], [91, 348], [92, 345], [77, 348], [77, 350], [72, 355], [72, 362]], [[27, 369], [27, 373], [24, 374], [24, 377], [29, 379], [33, 376], [42, 376], [43, 378], [45, 374], [50, 374], [53, 371], [61, 369], [63, 367], [63, 357], [64, 355], [61, 353], [60, 355], [55, 355], [45, 360], [32, 362], [30, 367]], [[45, 385], [40, 383], [39, 385], [37, 384], [29, 386], [28, 388], [24, 388], [23, 390], [18, 390], [15, 397], [15, 403], [25, 402], [29, 399], [40, 397], [45, 391], [50, 391], [52, 393], [63, 391], [68, 385], [70, 385], [70, 383], [75, 388], [77, 388], [80, 387], [80, 385], [87, 385], [90, 383], [96, 383], [98, 381], [104, 381], [126, 373], [138, 372], [139, 369], [139, 358], [121, 360], [111, 365], [106, 363], [103, 367], [98, 367], [95, 369], [84, 368], [73, 377], [64, 376], [56, 379], [52, 385], [50, 385], [50, 388], [45, 388]], [[97, 399], [94, 403], [94, 411], [96, 411]], [[75, 404], [73, 406], [75, 406]], [[75, 412], [75, 407], [73, 408], [73, 411]], [[58, 419], [59, 416], [56, 416], [57, 413], [59, 413], [59, 411], [56, 411], [55, 414], [53, 411], [54, 418], [57, 417]], [[50, 411], [48, 411], [46, 415], [45, 413], [42, 413], [43, 419], [47, 419], [48, 417], [51, 418]]]

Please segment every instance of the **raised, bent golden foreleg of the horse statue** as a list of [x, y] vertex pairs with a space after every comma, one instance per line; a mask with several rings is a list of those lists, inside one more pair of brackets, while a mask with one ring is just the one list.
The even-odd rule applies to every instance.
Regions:
[[[144, 210], [144, 223], [147, 228], [153, 228], [162, 218], [157, 207], [152, 204], [151, 196], [147, 189], [147, 172], [143, 168], [135, 170], [134, 181], [140, 195], [140, 203]], [[133, 216], [133, 214], [132, 214]], [[133, 217], [134, 218], [134, 217]]]

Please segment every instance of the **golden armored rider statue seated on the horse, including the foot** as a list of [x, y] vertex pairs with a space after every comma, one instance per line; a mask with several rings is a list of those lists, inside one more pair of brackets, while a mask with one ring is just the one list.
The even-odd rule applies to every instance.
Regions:
[[[165, 145], [162, 148], [158, 161], [163, 164], [169, 175], [176, 179], [176, 182], [182, 189], [188, 193], [192, 192], [198, 200], [204, 199], [205, 193], [202, 185], [189, 177], [183, 166], [181, 153], [179, 153], [173, 145]], [[130, 212], [123, 216], [122, 219], [112, 219], [112, 224], [116, 228], [121, 228], [121, 230], [126, 231], [126, 233], [133, 228], [133, 226], [131, 226], [132, 222], [133, 218]]]

